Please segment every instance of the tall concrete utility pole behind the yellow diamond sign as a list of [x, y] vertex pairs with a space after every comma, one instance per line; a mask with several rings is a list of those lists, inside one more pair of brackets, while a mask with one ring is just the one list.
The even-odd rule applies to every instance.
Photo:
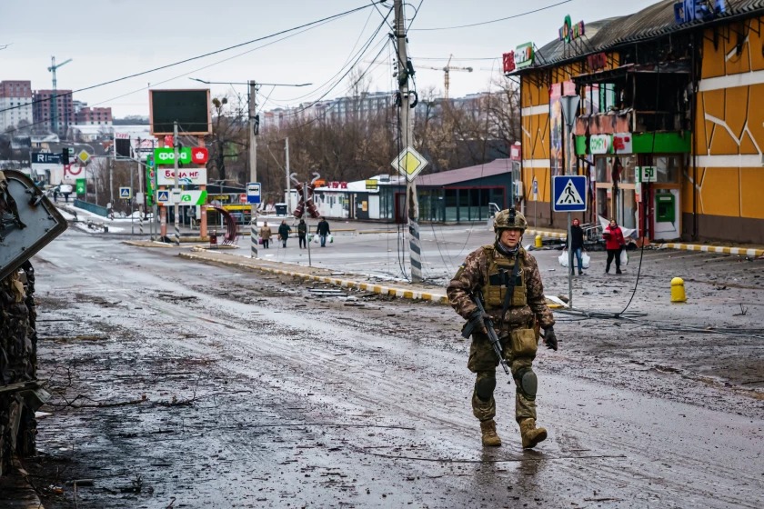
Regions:
[[[408, 56], [406, 50], [406, 20], [403, 15], [403, 0], [395, 0], [396, 39], [398, 49], [398, 92], [400, 93], [400, 136], [404, 149], [414, 144], [414, 122], [411, 118], [410, 96], [408, 95]], [[414, 179], [407, 179], [408, 209], [408, 255], [411, 262], [411, 281], [422, 281], [422, 244], [419, 240], [419, 203], [417, 185]]]

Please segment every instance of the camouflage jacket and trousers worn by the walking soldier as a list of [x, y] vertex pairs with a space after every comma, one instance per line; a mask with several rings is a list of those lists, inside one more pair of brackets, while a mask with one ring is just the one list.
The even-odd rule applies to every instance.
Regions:
[[[459, 267], [457, 274], [448, 284], [447, 295], [448, 302], [457, 313], [463, 318], [469, 319], [470, 315], [477, 311], [477, 306], [470, 295], [480, 289], [483, 289], [485, 294], [489, 286], [488, 271], [496, 266], [512, 268], [515, 264], [515, 256], [519, 256], [518, 266], [521, 267], [522, 284], [516, 284], [507, 314], [501, 316], [503, 304], [497, 304], [496, 298], [486, 298], [484, 307], [493, 319], [501, 341], [502, 351], [512, 371], [512, 376], [515, 378], [515, 386], [518, 388], [515, 399], [515, 417], [520, 423], [525, 419], [536, 419], [535, 395], [528, 397], [523, 394], [518, 384], [518, 376], [530, 369], [535, 353], [522, 355], [513, 353], [509, 341], [510, 331], [534, 328], [537, 320], [538, 325], [546, 329], [554, 325], [555, 319], [546, 304], [544, 286], [541, 283], [541, 274], [538, 272], [536, 259], [529, 255], [521, 245], [518, 245], [517, 255], [513, 256], [500, 253], [497, 245], [484, 245], [467, 255], [464, 264]], [[503, 294], [500, 295], [503, 296]], [[493, 304], [491, 304], [491, 300], [493, 300]], [[503, 301], [503, 298], [501, 300]], [[498, 366], [498, 358], [490, 344], [488, 335], [476, 331], [472, 334], [467, 368], [477, 374], [475, 390], [472, 394], [472, 411], [481, 422], [491, 420], [496, 415], [496, 402], [492, 388], [496, 384], [496, 366]], [[477, 388], [481, 384], [485, 386], [486, 382], [491, 387], [488, 401], [477, 396]]]

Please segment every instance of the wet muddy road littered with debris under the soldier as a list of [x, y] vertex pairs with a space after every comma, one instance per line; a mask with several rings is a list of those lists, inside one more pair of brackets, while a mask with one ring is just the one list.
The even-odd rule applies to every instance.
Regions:
[[[48, 509], [764, 505], [760, 262], [730, 263], [724, 290], [696, 271], [693, 305], [650, 297], [655, 268], [629, 314], [556, 313], [560, 350], [536, 363], [549, 438], [524, 451], [500, 372], [504, 445], [481, 447], [447, 306], [177, 251], [70, 230], [35, 256], [54, 397], [25, 468]], [[723, 265], [652, 256], [667, 274]], [[628, 281], [579, 281], [581, 305], [622, 307]]]

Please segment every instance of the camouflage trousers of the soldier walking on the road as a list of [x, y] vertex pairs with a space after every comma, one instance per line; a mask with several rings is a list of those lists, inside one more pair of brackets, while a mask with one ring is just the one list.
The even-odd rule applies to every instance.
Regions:
[[[524, 374], [528, 374], [535, 355], [516, 356], [511, 352], [508, 334], [502, 334], [500, 339], [504, 357], [512, 372], [512, 382], [515, 384], [515, 419], [518, 423], [523, 419], [536, 419], [535, 391], [533, 395], [524, 394], [520, 387], [520, 380]], [[472, 334], [467, 368], [476, 374], [475, 388], [472, 392], [472, 414], [480, 421], [487, 421], [496, 416], [496, 400], [493, 397], [493, 391], [497, 384], [497, 366], [498, 356], [491, 346], [488, 335]], [[506, 378], [503, 371], [500, 375]]]

